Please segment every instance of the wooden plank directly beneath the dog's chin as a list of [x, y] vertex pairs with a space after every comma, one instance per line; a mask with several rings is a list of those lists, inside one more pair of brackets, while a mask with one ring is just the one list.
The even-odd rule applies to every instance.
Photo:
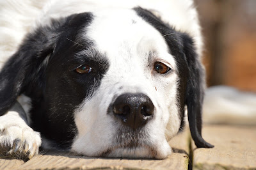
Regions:
[[20, 169], [188, 169], [188, 133], [177, 135], [170, 142], [175, 152], [164, 160], [92, 158], [48, 151], [32, 158]]

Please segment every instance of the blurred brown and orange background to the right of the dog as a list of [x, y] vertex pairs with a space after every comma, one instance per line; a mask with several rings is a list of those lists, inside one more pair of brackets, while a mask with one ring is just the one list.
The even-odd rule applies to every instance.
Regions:
[[256, 92], [256, 0], [195, 0], [207, 85]]

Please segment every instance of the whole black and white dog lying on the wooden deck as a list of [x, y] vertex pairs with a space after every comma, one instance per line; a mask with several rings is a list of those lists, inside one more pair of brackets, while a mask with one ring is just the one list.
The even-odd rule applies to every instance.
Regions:
[[1, 26], [1, 51], [16, 51], [0, 73], [1, 155], [31, 158], [42, 146], [166, 158], [186, 108], [196, 146], [213, 147], [201, 135], [205, 75], [191, 0], [5, 5], [20, 6], [1, 13], [10, 29]]

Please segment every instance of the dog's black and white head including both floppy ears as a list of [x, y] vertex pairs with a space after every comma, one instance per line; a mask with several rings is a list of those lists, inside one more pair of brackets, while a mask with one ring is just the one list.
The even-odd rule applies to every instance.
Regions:
[[0, 112], [24, 93], [31, 125], [88, 156], [164, 158], [188, 107], [201, 135], [204, 69], [193, 38], [142, 8], [52, 20], [26, 39], [0, 73]]

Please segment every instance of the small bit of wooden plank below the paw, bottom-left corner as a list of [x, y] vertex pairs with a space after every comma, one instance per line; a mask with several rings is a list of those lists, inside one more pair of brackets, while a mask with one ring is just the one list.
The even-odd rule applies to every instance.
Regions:
[[22, 164], [23, 160], [0, 158], [0, 169], [18, 169]]

